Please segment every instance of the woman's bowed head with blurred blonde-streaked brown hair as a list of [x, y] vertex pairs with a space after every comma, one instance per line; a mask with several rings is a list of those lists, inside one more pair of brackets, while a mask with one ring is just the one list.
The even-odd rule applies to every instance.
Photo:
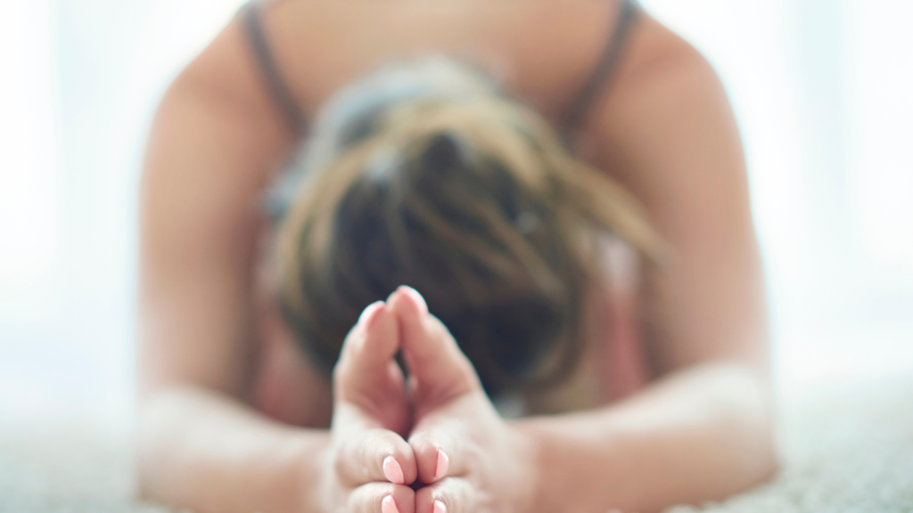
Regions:
[[327, 369], [362, 309], [409, 285], [489, 393], [551, 386], [579, 360], [583, 301], [602, 281], [593, 236], [656, 255], [629, 194], [534, 111], [447, 61], [344, 91], [311, 146], [280, 228], [279, 297]]

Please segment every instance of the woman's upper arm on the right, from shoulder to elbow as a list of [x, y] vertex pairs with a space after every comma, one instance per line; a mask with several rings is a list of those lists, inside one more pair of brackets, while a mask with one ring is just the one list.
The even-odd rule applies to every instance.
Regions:
[[671, 250], [644, 284], [650, 363], [663, 375], [723, 359], [766, 375], [761, 257], [729, 100], [693, 47], [648, 16], [642, 25], [586, 146]]

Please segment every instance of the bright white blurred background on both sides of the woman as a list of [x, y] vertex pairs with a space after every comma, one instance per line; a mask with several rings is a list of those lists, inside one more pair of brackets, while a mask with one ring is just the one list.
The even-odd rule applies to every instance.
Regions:
[[[130, 418], [145, 132], [239, 4], [0, 5], [0, 421]], [[913, 372], [913, 3], [642, 4], [729, 90], [780, 391]]]

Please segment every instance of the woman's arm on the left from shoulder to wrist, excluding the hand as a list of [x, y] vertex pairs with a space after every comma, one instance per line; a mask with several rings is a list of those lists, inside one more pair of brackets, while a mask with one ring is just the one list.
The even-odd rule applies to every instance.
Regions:
[[232, 23], [165, 94], [143, 172], [140, 491], [199, 511], [298, 508], [328, 439], [247, 406], [259, 194], [292, 140], [254, 69]]

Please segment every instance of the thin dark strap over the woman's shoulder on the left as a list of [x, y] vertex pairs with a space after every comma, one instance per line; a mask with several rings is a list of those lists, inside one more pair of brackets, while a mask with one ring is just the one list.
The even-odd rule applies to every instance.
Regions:
[[257, 60], [257, 66], [267, 81], [269, 96], [276, 102], [276, 106], [282, 112], [289, 126], [294, 131], [301, 131], [304, 128], [304, 115], [299, 110], [295, 97], [292, 96], [289, 87], [282, 78], [276, 59], [273, 58], [273, 52], [269, 48], [266, 33], [263, 30], [263, 23], [260, 20], [260, 2], [251, 0], [241, 8], [241, 25], [247, 33], [247, 39], [250, 47], [254, 50], [254, 58]]

